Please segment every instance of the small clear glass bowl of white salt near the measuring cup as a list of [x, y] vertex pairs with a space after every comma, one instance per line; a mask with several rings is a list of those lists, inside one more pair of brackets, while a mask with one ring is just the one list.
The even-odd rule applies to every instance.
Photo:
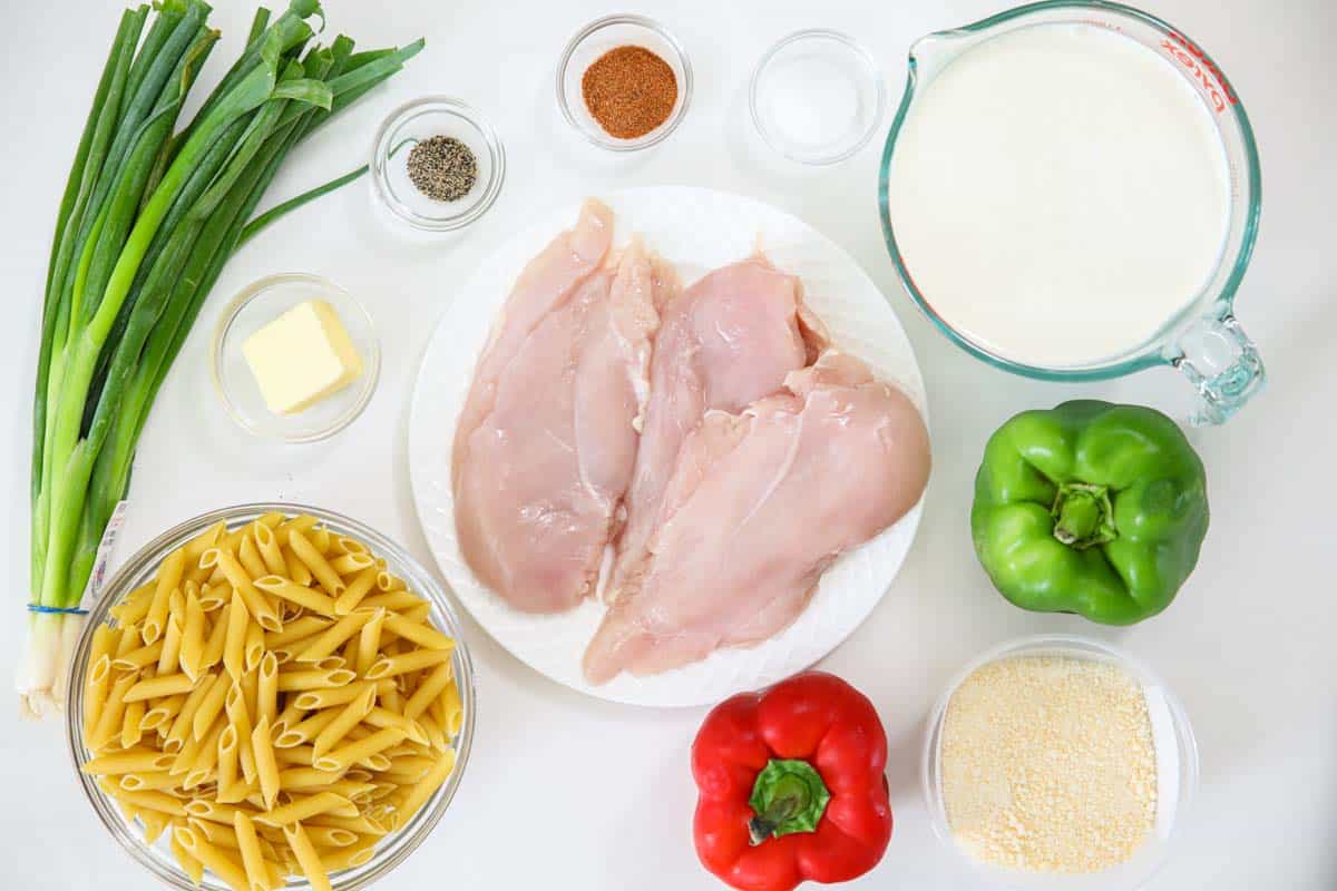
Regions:
[[[792, 106], [789, 118], [785, 104]], [[757, 63], [747, 106], [762, 142], [774, 151], [801, 164], [834, 164], [877, 131], [886, 87], [873, 55], [853, 37], [797, 31]]]

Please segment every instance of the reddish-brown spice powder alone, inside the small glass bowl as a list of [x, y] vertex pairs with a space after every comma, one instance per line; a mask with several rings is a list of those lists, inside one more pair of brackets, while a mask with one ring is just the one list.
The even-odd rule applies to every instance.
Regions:
[[586, 68], [580, 92], [604, 132], [638, 139], [668, 120], [678, 102], [678, 77], [644, 47], [616, 47]]

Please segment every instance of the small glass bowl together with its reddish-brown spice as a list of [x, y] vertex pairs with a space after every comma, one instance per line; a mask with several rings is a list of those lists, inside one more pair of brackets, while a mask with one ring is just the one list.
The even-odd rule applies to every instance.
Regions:
[[677, 130], [691, 100], [691, 63], [662, 24], [596, 19], [558, 63], [558, 107], [576, 132], [610, 151], [636, 151]]

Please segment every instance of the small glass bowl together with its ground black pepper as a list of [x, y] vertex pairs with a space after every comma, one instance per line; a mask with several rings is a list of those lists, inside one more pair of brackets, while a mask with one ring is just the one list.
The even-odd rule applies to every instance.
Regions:
[[385, 119], [372, 146], [372, 183], [413, 228], [444, 232], [483, 216], [505, 180], [505, 150], [467, 103], [422, 96]]

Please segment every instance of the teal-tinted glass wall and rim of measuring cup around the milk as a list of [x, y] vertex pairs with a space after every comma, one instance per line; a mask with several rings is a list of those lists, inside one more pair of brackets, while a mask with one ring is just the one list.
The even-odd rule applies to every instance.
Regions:
[[1239, 95], [1221, 65], [1218, 65], [1215, 60], [1213, 60], [1211, 56], [1202, 49], [1201, 43], [1190, 37], [1185, 31], [1174, 27], [1165, 19], [1151, 15], [1150, 12], [1123, 3], [1115, 3], [1112, 0], [1039, 0], [1038, 3], [1027, 3], [1009, 9], [1003, 9], [1001, 12], [996, 12], [991, 16], [956, 28], [933, 31], [923, 35], [921, 37], [916, 37], [915, 41], [910, 43], [906, 59], [905, 87], [901, 94], [900, 107], [892, 118], [892, 127], [886, 132], [886, 142], [882, 144], [882, 159], [878, 163], [877, 212], [882, 227], [882, 240], [886, 244], [886, 252], [890, 254], [892, 266], [896, 267], [896, 275], [901, 282], [901, 287], [909, 295], [910, 301], [920, 310], [920, 313], [923, 313], [924, 317], [933, 323], [933, 327], [941, 331], [952, 343], [996, 369], [1038, 381], [1108, 381], [1111, 378], [1123, 377], [1126, 374], [1142, 371], [1158, 365], [1175, 365], [1175, 359], [1166, 351], [1167, 339], [1171, 338], [1175, 331], [1182, 329], [1191, 319], [1202, 315], [1203, 309], [1207, 305], [1215, 306], [1218, 314], [1230, 314], [1233, 311], [1235, 294], [1239, 290], [1241, 281], [1243, 281], [1245, 271], [1249, 267], [1249, 260], [1253, 258], [1254, 244], [1258, 240], [1258, 222], [1262, 215], [1262, 166], [1258, 159], [1258, 144], [1254, 139], [1253, 126], [1249, 123], [1249, 115], [1245, 111], [1243, 102], [1237, 102], [1230, 107], [1230, 110], [1235, 124], [1239, 127], [1241, 144], [1243, 146], [1246, 158], [1245, 180], [1247, 183], [1247, 206], [1245, 210], [1243, 234], [1239, 240], [1239, 248], [1235, 251], [1234, 260], [1230, 260], [1225, 254], [1222, 255], [1221, 267], [1225, 267], [1229, 263], [1230, 274], [1226, 278], [1221, 294], [1214, 297], [1213, 301], [1206, 301], [1206, 294], [1199, 295], [1198, 299], [1190, 302], [1173, 318], [1167, 319], [1165, 325], [1162, 325], [1146, 342], [1119, 355], [1098, 359], [1098, 365], [1072, 367], [1027, 365], [1025, 362], [1012, 361], [1001, 355], [996, 355], [975, 343], [975, 341], [965, 337], [965, 334], [957, 331], [947, 319], [937, 314], [937, 310], [933, 309], [933, 305], [929, 303], [928, 298], [920, 294], [920, 290], [915, 286], [909, 267], [905, 264], [905, 259], [901, 256], [901, 251], [896, 244], [896, 234], [892, 230], [889, 214], [888, 186], [890, 182], [892, 154], [896, 150], [896, 140], [905, 123], [905, 116], [919, 92], [919, 61], [915, 57], [915, 47], [917, 47], [923, 40], [928, 40], [931, 37], [957, 37], [971, 35], [987, 31], [993, 25], [1004, 24], [1013, 19], [1023, 19], [1035, 13], [1060, 11], [1071, 11], [1074, 13], [1096, 11], [1127, 16], [1128, 19], [1136, 20], [1150, 28], [1161, 31], [1165, 35], [1178, 35], [1202, 52], [1203, 60], [1210, 63], [1214, 73], [1221, 79], [1221, 83], [1226, 87], [1226, 90], [1235, 96]]

